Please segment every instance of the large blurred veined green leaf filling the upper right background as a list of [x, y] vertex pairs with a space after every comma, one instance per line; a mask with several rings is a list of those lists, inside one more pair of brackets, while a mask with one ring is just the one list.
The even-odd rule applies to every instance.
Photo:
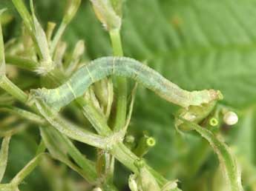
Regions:
[[[157, 15], [158, 22], [153, 23], [150, 16], [143, 24], [135, 22], [147, 15], [139, 12], [142, 4], [151, 16]], [[220, 90], [224, 101], [234, 107], [255, 101], [255, 20], [250, 16], [253, 1], [140, 0], [129, 6], [133, 14], [128, 16], [131, 15], [140, 43], [144, 42], [153, 55], [142, 58], [151, 58], [150, 65], [160, 73], [188, 90]], [[153, 24], [151, 35], [143, 35]], [[136, 56], [136, 51], [132, 55]]]

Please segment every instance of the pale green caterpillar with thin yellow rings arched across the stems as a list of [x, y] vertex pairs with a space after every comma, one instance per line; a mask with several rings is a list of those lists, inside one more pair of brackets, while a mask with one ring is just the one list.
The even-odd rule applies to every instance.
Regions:
[[88, 87], [107, 76], [132, 78], [149, 90], [181, 107], [200, 106], [222, 98], [218, 90], [187, 91], [168, 81], [155, 70], [133, 58], [102, 57], [84, 65], [65, 84], [55, 89], [36, 89], [33, 95], [42, 98], [51, 107], [59, 110], [75, 98], [82, 96]]

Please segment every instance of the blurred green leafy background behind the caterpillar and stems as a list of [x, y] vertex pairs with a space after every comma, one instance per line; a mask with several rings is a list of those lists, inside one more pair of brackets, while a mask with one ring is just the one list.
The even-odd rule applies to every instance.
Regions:
[[[43, 26], [47, 21], [60, 23], [65, 0], [34, 0], [34, 4]], [[7, 41], [21, 33], [21, 19], [10, 0], [1, 0], [1, 7], [8, 7], [14, 16], [4, 25]], [[223, 130], [223, 136], [240, 161], [246, 190], [256, 190], [255, 10], [254, 0], [126, 0], [122, 24], [125, 56], [145, 62], [187, 90], [221, 90], [222, 104], [237, 111], [238, 124]], [[85, 40], [85, 58], [112, 54], [108, 33], [96, 19], [88, 0], [82, 1], [79, 13], [65, 32], [70, 50], [79, 39]], [[140, 87], [129, 132], [140, 135], [146, 130], [157, 139], [157, 145], [146, 155], [148, 163], [166, 178], [178, 178], [183, 190], [225, 190], [221, 188], [223, 180], [219, 178], [217, 157], [211, 148], [200, 154], [204, 157], [199, 161], [194, 156], [199, 145], [205, 145], [201, 138], [188, 135], [184, 140], [175, 132], [172, 113], [176, 109]], [[13, 137], [5, 181], [33, 158], [38, 142], [36, 129]], [[78, 145], [85, 153], [93, 153], [93, 148]], [[65, 167], [62, 170], [64, 176], [82, 181]], [[116, 184], [125, 190], [129, 172], [118, 165], [116, 173]], [[37, 168], [21, 190], [50, 188], [44, 173]]]

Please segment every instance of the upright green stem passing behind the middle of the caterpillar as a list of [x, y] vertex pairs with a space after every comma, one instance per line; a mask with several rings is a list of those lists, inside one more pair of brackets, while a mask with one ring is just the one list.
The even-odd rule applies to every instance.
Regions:
[[[111, 43], [114, 56], [123, 56], [122, 42], [119, 30], [111, 30]], [[116, 118], [114, 130], [119, 131], [125, 128], [126, 110], [127, 110], [127, 82], [125, 78], [116, 77]]]

